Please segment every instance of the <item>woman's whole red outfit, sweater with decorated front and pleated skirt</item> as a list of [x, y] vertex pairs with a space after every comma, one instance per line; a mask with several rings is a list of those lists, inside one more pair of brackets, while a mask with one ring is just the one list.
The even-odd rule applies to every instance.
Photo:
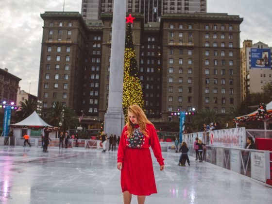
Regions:
[[122, 192], [129, 191], [139, 196], [157, 193], [149, 147], [152, 147], [159, 165], [164, 165], [164, 158], [155, 128], [152, 124], [146, 124], [146, 133], [149, 137], [143, 135], [138, 125], [135, 126], [130, 138], [125, 134], [126, 131], [127, 126], [124, 127], [120, 137], [117, 158], [117, 162], [122, 163]]

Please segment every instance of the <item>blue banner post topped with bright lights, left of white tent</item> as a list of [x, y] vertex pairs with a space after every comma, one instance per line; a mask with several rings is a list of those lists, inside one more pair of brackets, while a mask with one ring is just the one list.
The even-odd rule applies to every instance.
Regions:
[[9, 126], [10, 126], [10, 118], [11, 118], [11, 110], [17, 110], [17, 105], [14, 102], [10, 102], [8, 104], [6, 101], [0, 102], [0, 108], [4, 108], [4, 121], [3, 121], [3, 133], [2, 136], [8, 136], [9, 134]]

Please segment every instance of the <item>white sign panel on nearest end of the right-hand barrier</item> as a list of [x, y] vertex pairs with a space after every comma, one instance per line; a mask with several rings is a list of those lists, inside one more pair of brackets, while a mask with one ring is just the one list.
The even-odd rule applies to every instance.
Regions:
[[270, 179], [269, 151], [251, 152], [251, 178], [266, 183]]

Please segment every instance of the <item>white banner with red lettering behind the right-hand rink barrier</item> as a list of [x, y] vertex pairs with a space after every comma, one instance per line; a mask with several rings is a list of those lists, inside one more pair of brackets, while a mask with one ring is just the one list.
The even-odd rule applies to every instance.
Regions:
[[244, 148], [245, 128], [222, 129], [209, 132], [211, 146]]

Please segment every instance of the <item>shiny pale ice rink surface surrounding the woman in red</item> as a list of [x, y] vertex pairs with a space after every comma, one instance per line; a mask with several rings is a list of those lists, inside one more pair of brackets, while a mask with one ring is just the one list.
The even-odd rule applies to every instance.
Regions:
[[[1, 204], [123, 203], [117, 152], [0, 147], [0, 155]], [[163, 153], [164, 171], [153, 157], [158, 193], [146, 204], [272, 204], [272, 188], [192, 157], [179, 167], [179, 155]]]

